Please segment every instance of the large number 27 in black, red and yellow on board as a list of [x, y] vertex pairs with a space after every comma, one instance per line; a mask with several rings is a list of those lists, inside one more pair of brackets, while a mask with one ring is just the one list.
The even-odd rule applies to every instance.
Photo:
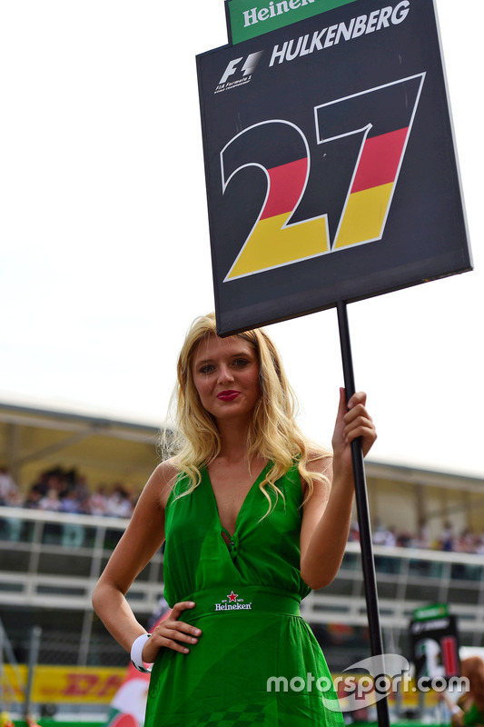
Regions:
[[[243, 167], [258, 166], [266, 174], [267, 193], [224, 282], [381, 239], [424, 76], [410, 76], [314, 107], [321, 154], [337, 140], [350, 144], [350, 137], [354, 149], [350, 165], [345, 162], [348, 174], [343, 174], [338, 157], [338, 174], [331, 177], [331, 184], [342, 187], [339, 210], [331, 214], [331, 234], [324, 190], [314, 181], [308, 187], [310, 145], [298, 126], [272, 119], [252, 125], [225, 145], [222, 191]], [[300, 219], [296, 212], [308, 189], [317, 212], [313, 205], [308, 218]]]

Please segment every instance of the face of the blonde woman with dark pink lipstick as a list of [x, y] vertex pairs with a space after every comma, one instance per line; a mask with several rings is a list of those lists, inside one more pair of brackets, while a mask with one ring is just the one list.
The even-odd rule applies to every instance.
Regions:
[[197, 344], [192, 375], [203, 408], [217, 420], [249, 417], [261, 396], [255, 348], [238, 335], [210, 334]]

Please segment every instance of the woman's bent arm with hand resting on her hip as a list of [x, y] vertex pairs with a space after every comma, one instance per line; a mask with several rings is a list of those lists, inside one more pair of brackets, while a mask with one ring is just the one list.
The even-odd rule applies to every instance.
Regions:
[[[164, 509], [178, 471], [170, 461], [161, 463], [153, 472], [141, 494], [133, 516], [114, 553], [107, 563], [93, 593], [94, 611], [107, 630], [126, 651], [134, 640], [146, 633], [134, 617], [126, 593], [134, 579], [150, 562], [164, 541]], [[185, 608], [192, 603], [177, 603], [171, 614], [156, 627], [143, 647], [143, 659], [153, 662], [162, 646], [187, 652], [178, 641], [196, 642], [189, 634], [198, 630], [178, 622]]]

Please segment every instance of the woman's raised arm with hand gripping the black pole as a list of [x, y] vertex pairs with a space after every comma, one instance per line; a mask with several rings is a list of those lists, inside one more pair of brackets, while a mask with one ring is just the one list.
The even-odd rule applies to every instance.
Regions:
[[[366, 394], [355, 393], [348, 408], [344, 389], [334, 428], [332, 485], [314, 483], [304, 505], [301, 524], [301, 577], [312, 589], [329, 585], [340, 570], [351, 524], [354, 495], [351, 442], [361, 437], [363, 455], [370, 451], [376, 430], [365, 408]], [[311, 463], [331, 479], [325, 459]]]

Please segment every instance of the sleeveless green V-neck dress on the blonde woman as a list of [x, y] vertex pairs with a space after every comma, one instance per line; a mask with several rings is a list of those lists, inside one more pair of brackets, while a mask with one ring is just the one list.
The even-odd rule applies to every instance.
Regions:
[[[300, 573], [301, 479], [294, 466], [267, 517], [259, 488], [235, 533], [222, 528], [206, 470], [186, 496], [180, 477], [165, 516], [164, 595], [194, 601], [182, 618], [202, 629], [190, 653], [163, 649], [153, 665], [145, 727], [308, 727], [343, 724], [330, 672], [299, 614], [310, 593]], [[222, 537], [229, 536], [230, 544]]]

